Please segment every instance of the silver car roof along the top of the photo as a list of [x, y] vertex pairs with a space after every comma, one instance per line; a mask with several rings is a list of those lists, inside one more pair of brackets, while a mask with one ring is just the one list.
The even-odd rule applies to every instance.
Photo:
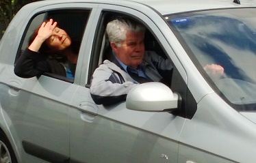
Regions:
[[[57, 3], [99, 3], [124, 5], [131, 8], [153, 8], [159, 14], [174, 14], [196, 10], [211, 10], [220, 8], [256, 7], [255, 0], [45, 0]], [[234, 1], [239, 1], [240, 4]]]

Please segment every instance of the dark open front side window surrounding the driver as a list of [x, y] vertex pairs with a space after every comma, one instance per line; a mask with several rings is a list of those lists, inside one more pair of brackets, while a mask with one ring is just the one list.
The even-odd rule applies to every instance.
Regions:
[[[92, 74], [94, 70], [105, 60], [109, 59], [112, 54], [112, 48], [110, 46], [110, 42], [108, 41], [107, 34], [105, 33], [105, 28], [108, 22], [110, 20], [113, 20], [114, 18], [129, 18], [135, 21], [138, 21], [142, 25], [145, 25], [146, 31], [144, 35], [144, 46], [145, 50], [154, 51], [162, 57], [163, 59], [168, 60], [170, 64], [172, 64], [172, 73], [170, 74], [161, 74], [162, 77], [164, 77], [166, 80], [168, 80], [168, 87], [172, 89], [173, 92], [179, 93], [181, 95], [182, 104], [180, 104], [181, 110], [177, 115], [180, 115], [182, 117], [188, 117], [191, 118], [195, 111], [196, 111], [196, 102], [190, 93], [190, 90], [188, 90], [187, 85], [185, 84], [185, 81], [181, 77], [181, 74], [179, 74], [179, 71], [175, 67], [175, 64], [172, 62], [170, 57], [168, 57], [168, 53], [166, 53], [164, 47], [162, 46], [161, 42], [158, 40], [157, 35], [155, 35], [154, 31], [144, 23], [139, 18], [136, 18], [136, 16], [131, 16], [130, 14], [120, 14], [119, 12], [103, 12], [101, 14], [101, 19], [99, 20], [99, 24], [97, 26], [97, 34], [94, 36], [94, 44], [93, 44], [93, 50], [92, 55], [90, 58], [90, 71], [88, 72], [88, 85], [87, 87], [90, 87], [90, 80], [92, 78]], [[189, 104], [188, 104], [189, 103]], [[190, 111], [185, 112], [186, 106], [190, 106]]]

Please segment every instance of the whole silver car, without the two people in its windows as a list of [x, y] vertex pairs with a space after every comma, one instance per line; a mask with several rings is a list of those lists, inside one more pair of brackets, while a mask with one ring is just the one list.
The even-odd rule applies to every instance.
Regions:
[[[39, 163], [255, 162], [256, 2], [235, 2], [47, 0], [25, 5], [0, 43], [1, 148], [8, 149], [12, 162], [14, 157]], [[126, 102], [94, 103], [90, 79], [104, 59], [105, 25], [114, 16], [145, 25], [146, 50], [155, 50], [174, 67], [170, 88], [145, 83], [131, 90]], [[74, 80], [14, 74], [29, 35], [48, 18], [57, 20], [78, 47]], [[212, 80], [205, 63], [222, 64], [225, 76]]]

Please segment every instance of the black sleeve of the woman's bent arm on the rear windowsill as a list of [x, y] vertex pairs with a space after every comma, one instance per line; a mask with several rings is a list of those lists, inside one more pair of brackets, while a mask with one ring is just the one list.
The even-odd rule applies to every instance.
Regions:
[[47, 57], [28, 48], [18, 58], [14, 68], [14, 73], [21, 78], [31, 78], [49, 71]]

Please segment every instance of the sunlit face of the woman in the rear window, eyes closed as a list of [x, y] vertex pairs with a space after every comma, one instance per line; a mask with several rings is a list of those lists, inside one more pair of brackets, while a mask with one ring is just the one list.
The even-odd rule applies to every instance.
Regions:
[[46, 43], [53, 50], [64, 50], [68, 46], [71, 46], [71, 38], [68, 36], [66, 31], [59, 27], [55, 27]]

